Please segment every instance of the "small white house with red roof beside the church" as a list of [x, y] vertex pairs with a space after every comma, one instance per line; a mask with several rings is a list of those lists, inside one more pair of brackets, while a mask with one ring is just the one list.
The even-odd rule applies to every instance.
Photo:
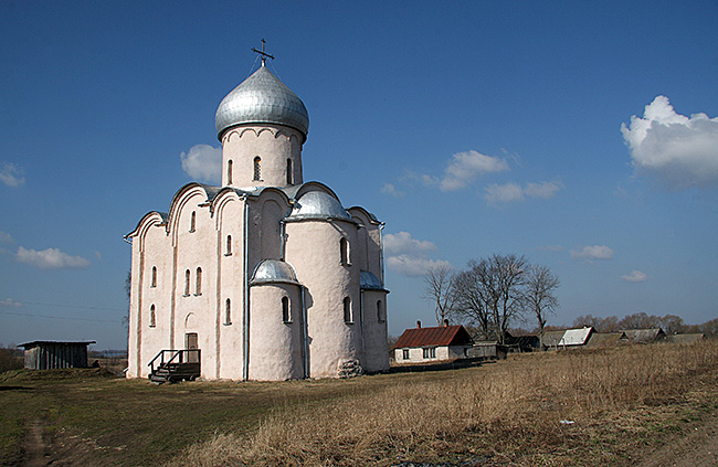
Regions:
[[394, 346], [397, 363], [423, 363], [465, 359], [474, 342], [463, 326], [406, 329]]

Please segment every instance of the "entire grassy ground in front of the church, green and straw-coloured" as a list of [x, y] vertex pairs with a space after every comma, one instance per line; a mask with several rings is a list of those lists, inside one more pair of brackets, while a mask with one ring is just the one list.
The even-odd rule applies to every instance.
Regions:
[[709, 466], [718, 463], [717, 383], [715, 341], [521, 354], [349, 381], [156, 386], [92, 370], [15, 371], [0, 375], [0, 458], [97, 466]]

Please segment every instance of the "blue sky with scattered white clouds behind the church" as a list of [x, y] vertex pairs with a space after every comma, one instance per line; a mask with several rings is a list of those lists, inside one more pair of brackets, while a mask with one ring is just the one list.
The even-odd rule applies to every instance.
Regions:
[[427, 266], [493, 253], [559, 275], [552, 325], [716, 318], [716, 24], [715, 1], [0, 2], [0, 342], [126, 347], [123, 235], [210, 181], [182, 155], [211, 163], [262, 38], [309, 110], [305, 180], [387, 223], [390, 333], [432, 321]]

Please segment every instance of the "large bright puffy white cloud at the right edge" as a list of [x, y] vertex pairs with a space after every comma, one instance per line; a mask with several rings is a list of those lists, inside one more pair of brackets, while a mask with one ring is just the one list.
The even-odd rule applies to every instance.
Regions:
[[668, 189], [718, 185], [718, 117], [676, 114], [666, 96], [657, 96], [621, 132], [636, 173]]

